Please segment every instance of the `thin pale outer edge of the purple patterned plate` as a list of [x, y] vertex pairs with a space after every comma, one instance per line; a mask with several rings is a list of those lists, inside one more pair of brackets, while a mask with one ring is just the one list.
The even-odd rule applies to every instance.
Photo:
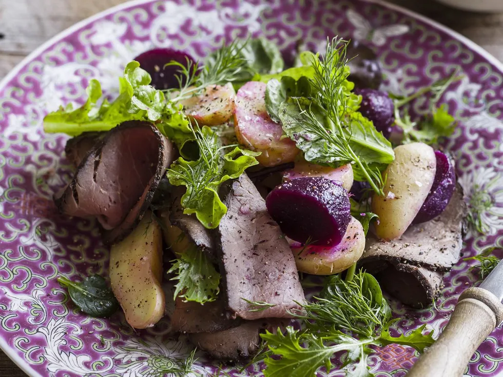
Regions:
[[[488, 61], [495, 68], [497, 68], [499, 70], [499, 72], [503, 73], [503, 63], [500, 62], [495, 56], [493, 56], [487, 50], [483, 49], [481, 46], [477, 45], [475, 42], [471, 41], [469, 38], [450, 29], [449, 27], [446, 27], [446, 26], [444, 26], [436, 21], [433, 21], [432, 19], [430, 19], [426, 16], [420, 15], [414, 11], [403, 8], [403, 7], [396, 5], [396, 4], [388, 3], [384, 0], [363, 0], [363, 1], [366, 3], [370, 3], [370, 4], [376, 4], [376, 5], [382, 6], [384, 8], [387, 8], [391, 11], [396, 11], [396, 12], [401, 13], [403, 15], [417, 19], [418, 21], [420, 21], [424, 24], [427, 24], [434, 29], [437, 29], [438, 31], [441, 31], [443, 33], [450, 35], [452, 38], [457, 39], [457, 41], [464, 44], [468, 49], [472, 50], [473, 52], [476, 52], [483, 59], [486, 59], [486, 61]], [[20, 63], [18, 63], [0, 81], [0, 91], [5, 89], [5, 87], [11, 82], [11, 80], [13, 78], [15, 78], [16, 75], [19, 74], [20, 71], [25, 66], [27, 66], [30, 62], [32, 62], [37, 56], [39, 56], [45, 50], [47, 50], [51, 46], [55, 45], [56, 43], [60, 42], [63, 38], [65, 38], [69, 35], [72, 35], [73, 33], [77, 32], [79, 29], [93, 23], [94, 21], [97, 21], [101, 18], [104, 18], [105, 16], [117, 13], [121, 10], [141, 6], [144, 4], [151, 3], [151, 2], [153, 2], [153, 0], [128, 1], [124, 4], [120, 4], [120, 5], [111, 7], [109, 9], [104, 10], [104, 11], [96, 13], [90, 17], [87, 17], [87, 18], [83, 19], [82, 21], [74, 24], [73, 26], [65, 29], [64, 31], [56, 34], [55, 36], [51, 37], [47, 42], [45, 42], [40, 47], [38, 47], [34, 51], [32, 51], [29, 55], [27, 55]], [[13, 349], [12, 347], [9, 346], [8, 341], [3, 336], [0, 337], [0, 350], [2, 350], [18, 367], [20, 367], [30, 377], [44, 377], [43, 375], [41, 375], [40, 373], [35, 371], [30, 364], [28, 364], [26, 361], [24, 361], [22, 359], [22, 357], [16, 353], [15, 349]]]

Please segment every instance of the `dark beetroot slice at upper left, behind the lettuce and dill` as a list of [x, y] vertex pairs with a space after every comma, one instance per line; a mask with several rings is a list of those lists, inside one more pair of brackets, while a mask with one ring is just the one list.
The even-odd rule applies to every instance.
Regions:
[[[167, 63], [175, 61], [187, 67], [187, 62], [195, 62], [194, 58], [186, 52], [170, 48], [148, 50], [138, 55], [134, 60], [140, 63], [140, 67], [150, 74], [152, 77], [151, 85], [160, 90], [178, 88], [180, 86], [176, 77], [180, 75], [180, 67], [164, 67]], [[182, 83], [184, 84], [183, 81]]]

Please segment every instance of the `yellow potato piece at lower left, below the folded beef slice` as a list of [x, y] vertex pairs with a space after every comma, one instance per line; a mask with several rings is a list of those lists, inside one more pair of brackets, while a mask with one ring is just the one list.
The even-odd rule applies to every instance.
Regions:
[[110, 284], [132, 327], [151, 327], [164, 315], [161, 280], [161, 229], [146, 213], [138, 227], [110, 250]]

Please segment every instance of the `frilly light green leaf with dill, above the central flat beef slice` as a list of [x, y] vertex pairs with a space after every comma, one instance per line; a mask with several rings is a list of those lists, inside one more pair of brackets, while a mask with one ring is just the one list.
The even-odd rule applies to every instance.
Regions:
[[208, 229], [215, 229], [220, 219], [227, 212], [227, 207], [218, 196], [222, 183], [235, 179], [250, 166], [257, 165], [253, 152], [235, 147], [224, 154], [224, 147], [218, 135], [209, 127], [194, 131], [194, 138], [199, 146], [199, 158], [186, 161], [179, 157], [168, 170], [169, 183], [175, 186], [186, 186], [181, 198], [184, 213], [195, 213], [198, 220]]

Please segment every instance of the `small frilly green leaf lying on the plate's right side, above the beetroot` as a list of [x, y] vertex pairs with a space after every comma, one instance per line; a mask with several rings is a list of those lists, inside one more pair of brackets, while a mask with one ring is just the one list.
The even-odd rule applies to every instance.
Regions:
[[423, 120], [419, 124], [412, 122], [405, 112], [403, 118], [395, 109], [395, 122], [403, 129], [403, 143], [422, 142], [425, 144], [436, 144], [441, 136], [450, 136], [457, 126], [457, 122], [449, 114], [447, 106], [435, 107], [432, 116]]

